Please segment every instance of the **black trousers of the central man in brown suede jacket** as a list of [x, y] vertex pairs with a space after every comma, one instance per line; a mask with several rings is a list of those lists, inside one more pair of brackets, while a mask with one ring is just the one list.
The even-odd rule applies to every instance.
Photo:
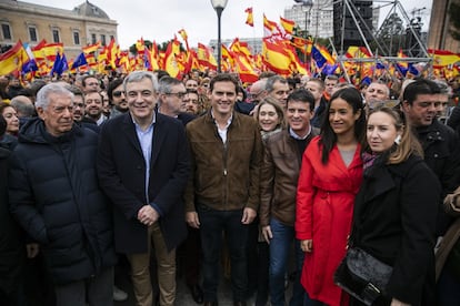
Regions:
[[204, 300], [218, 300], [219, 267], [222, 249], [222, 232], [231, 262], [231, 288], [234, 302], [246, 300], [248, 287], [247, 239], [249, 226], [241, 223], [242, 210], [216, 211], [197, 205], [200, 220], [201, 247], [203, 253]]

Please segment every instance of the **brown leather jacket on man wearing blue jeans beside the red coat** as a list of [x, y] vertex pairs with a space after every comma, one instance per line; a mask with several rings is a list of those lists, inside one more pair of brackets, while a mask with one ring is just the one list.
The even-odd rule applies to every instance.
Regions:
[[[318, 130], [312, 129], [309, 143]], [[308, 145], [308, 144], [307, 144]], [[260, 171], [260, 225], [270, 225], [270, 217], [284, 225], [296, 221], [296, 191], [302, 153], [296, 140], [283, 130], [268, 137]]]

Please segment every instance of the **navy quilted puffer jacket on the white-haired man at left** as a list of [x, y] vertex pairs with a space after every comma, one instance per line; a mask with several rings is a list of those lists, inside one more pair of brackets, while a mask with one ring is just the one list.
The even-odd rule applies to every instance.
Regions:
[[50, 135], [26, 123], [12, 154], [10, 210], [40, 244], [57, 284], [84, 279], [116, 263], [108, 198], [98, 186], [98, 134], [73, 125]]

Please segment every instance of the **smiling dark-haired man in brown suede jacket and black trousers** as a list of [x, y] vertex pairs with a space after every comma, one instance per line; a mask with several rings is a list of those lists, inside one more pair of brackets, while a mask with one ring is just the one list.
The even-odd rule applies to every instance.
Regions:
[[233, 111], [238, 82], [230, 74], [210, 82], [211, 109], [187, 125], [191, 175], [187, 223], [201, 231], [204, 305], [218, 305], [222, 232], [231, 257], [234, 305], [246, 305], [246, 245], [259, 207], [262, 143], [256, 121]]

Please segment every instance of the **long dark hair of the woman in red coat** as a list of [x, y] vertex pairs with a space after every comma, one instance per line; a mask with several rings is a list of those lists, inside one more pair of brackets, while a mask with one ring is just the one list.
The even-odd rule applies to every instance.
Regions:
[[333, 132], [329, 122], [329, 111], [333, 100], [343, 99], [353, 110], [353, 114], [360, 112], [360, 116], [354, 122], [354, 137], [360, 144], [363, 144], [366, 137], [366, 113], [362, 103], [361, 93], [354, 88], [344, 88], [337, 91], [326, 108], [326, 115], [321, 125], [321, 140], [319, 144], [322, 144], [321, 162], [327, 164], [329, 161], [329, 154], [337, 143], [337, 135]]

